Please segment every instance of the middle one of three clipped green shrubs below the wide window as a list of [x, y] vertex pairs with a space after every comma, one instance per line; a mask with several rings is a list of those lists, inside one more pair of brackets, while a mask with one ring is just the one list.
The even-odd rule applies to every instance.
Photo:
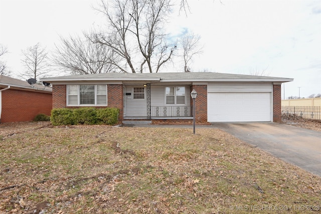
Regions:
[[97, 122], [97, 110], [95, 108], [77, 108], [73, 110], [75, 124], [93, 125]]

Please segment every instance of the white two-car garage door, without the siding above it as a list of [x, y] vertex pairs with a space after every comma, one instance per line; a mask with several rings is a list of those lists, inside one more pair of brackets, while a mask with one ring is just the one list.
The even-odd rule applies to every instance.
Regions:
[[271, 121], [270, 99], [269, 92], [208, 93], [208, 121]]

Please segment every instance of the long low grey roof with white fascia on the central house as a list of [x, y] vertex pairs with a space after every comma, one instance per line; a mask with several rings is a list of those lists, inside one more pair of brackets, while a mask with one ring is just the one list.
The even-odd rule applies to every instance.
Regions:
[[156, 81], [156, 82], [291, 82], [291, 78], [213, 72], [103, 73], [42, 78], [46, 82], [69, 81]]

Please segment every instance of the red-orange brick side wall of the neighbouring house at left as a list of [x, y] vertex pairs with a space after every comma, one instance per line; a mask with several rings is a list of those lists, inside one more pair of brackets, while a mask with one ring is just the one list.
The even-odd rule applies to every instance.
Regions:
[[9, 89], [2, 92], [2, 123], [32, 121], [37, 114], [50, 116], [52, 94]]

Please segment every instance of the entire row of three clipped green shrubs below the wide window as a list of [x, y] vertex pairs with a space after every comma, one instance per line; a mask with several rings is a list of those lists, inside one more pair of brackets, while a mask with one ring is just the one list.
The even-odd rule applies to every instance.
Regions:
[[117, 108], [60, 108], [51, 111], [51, 123], [53, 125], [114, 125], [118, 122], [118, 114]]

